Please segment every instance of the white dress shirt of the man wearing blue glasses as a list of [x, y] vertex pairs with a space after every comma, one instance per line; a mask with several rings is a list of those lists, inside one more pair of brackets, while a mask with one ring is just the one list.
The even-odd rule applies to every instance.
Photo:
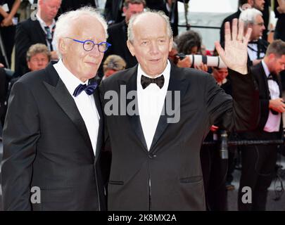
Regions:
[[68, 92], [74, 99], [77, 109], [80, 111], [80, 115], [84, 120], [89, 134], [94, 155], [96, 155], [100, 116], [95, 105], [94, 96], [89, 96], [85, 91], [82, 91], [77, 97], [73, 96], [73, 92], [77, 86], [79, 84], [88, 84], [88, 81], [83, 83], [80, 79], [75, 77], [75, 75], [72, 75], [68, 68], [65, 67], [62, 60], [59, 60], [58, 63], [53, 65], [53, 67], [56, 69], [56, 72], [58, 72], [63, 84], [65, 84]]

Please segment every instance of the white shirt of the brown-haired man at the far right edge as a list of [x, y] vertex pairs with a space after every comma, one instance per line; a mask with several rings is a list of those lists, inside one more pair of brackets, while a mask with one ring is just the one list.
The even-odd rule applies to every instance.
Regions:
[[[265, 71], [265, 75], [266, 75], [266, 77], [268, 77], [270, 75], [270, 71], [269, 71], [266, 63], [263, 60], [261, 61], [261, 63], [262, 63], [262, 67]], [[268, 88], [270, 90], [271, 99], [279, 98], [280, 90], [279, 90], [279, 86], [278, 86], [277, 82], [274, 81], [273, 79], [268, 79], [267, 82], [268, 82]], [[270, 110], [267, 122], [266, 122], [263, 130], [267, 131], [267, 132], [279, 131], [280, 122], [281, 122], [281, 113], [274, 115]]]

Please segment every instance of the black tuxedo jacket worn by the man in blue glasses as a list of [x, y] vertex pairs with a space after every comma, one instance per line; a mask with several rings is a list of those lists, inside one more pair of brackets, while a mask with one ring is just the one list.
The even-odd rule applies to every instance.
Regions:
[[[104, 210], [99, 168], [103, 113], [96, 157], [74, 99], [53, 65], [21, 77], [13, 85], [4, 125], [2, 190], [4, 210]], [[30, 203], [30, 189], [41, 203]]]

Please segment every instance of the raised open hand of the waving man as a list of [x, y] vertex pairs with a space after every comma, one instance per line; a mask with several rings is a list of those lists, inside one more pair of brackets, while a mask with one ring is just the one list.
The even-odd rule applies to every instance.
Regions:
[[224, 64], [228, 68], [239, 72], [243, 75], [248, 73], [247, 60], [248, 60], [248, 41], [251, 37], [251, 28], [248, 28], [246, 36], [243, 37], [243, 21], [234, 19], [232, 21], [232, 33], [229, 27], [229, 22], [224, 25], [224, 49], [218, 41], [215, 42], [217, 53], [219, 53]]

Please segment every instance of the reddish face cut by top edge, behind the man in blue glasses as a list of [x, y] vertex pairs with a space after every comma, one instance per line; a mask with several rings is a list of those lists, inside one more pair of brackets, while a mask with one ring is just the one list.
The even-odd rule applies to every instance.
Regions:
[[44, 21], [51, 21], [56, 17], [58, 9], [61, 8], [61, 0], [39, 0], [41, 17]]

